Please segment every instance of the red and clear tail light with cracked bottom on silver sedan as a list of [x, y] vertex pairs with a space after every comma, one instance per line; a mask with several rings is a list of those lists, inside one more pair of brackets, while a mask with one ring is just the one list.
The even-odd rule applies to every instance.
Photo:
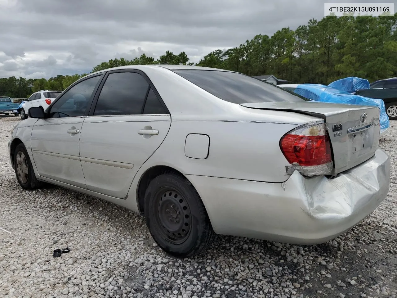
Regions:
[[331, 146], [324, 122], [291, 130], [281, 138], [280, 148], [287, 161], [304, 176], [331, 173]]

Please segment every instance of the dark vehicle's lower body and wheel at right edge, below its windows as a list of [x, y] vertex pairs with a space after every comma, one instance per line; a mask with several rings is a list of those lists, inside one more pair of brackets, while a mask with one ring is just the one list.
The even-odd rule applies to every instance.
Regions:
[[382, 99], [385, 102], [387, 116], [390, 120], [397, 120], [397, 89], [360, 89], [355, 95]]

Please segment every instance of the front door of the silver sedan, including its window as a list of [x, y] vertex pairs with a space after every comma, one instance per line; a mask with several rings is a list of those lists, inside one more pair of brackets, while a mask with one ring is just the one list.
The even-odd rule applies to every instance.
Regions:
[[59, 97], [45, 119], [33, 126], [31, 147], [40, 176], [85, 187], [79, 140], [101, 75], [78, 82]]

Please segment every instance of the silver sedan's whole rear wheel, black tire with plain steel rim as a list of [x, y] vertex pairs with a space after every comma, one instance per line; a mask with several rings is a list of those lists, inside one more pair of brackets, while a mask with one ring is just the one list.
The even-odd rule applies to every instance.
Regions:
[[175, 172], [164, 172], [149, 183], [144, 210], [152, 238], [175, 257], [198, 255], [216, 238], [197, 191]]

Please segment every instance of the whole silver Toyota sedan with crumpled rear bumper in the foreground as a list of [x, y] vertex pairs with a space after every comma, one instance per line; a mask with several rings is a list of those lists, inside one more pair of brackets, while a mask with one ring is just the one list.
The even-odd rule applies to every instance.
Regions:
[[56, 184], [142, 214], [178, 257], [216, 234], [326, 242], [389, 189], [378, 108], [308, 101], [236, 72], [102, 70], [28, 115], [8, 143], [22, 188]]

